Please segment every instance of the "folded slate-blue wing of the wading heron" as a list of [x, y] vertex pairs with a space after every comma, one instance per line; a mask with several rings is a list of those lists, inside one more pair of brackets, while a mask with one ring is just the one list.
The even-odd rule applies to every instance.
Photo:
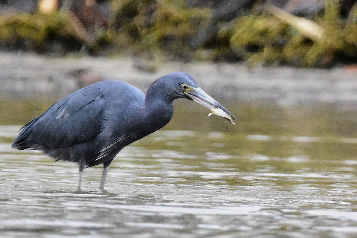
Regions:
[[[129, 83], [106, 80], [77, 90], [56, 102], [41, 116], [22, 128], [17, 148], [63, 148], [91, 142], [104, 132], [106, 110], [143, 105], [144, 93]], [[108, 133], [108, 132], [105, 132]]]

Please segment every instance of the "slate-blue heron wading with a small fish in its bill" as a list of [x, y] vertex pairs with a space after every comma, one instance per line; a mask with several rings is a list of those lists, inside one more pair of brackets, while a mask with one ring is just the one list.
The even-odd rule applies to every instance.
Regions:
[[109, 164], [119, 151], [165, 126], [177, 98], [187, 98], [233, 123], [234, 116], [205, 93], [192, 78], [174, 72], [157, 79], [146, 95], [118, 80], [81, 88], [56, 102], [21, 128], [12, 143], [18, 150], [41, 150], [56, 160], [79, 164], [79, 183], [85, 167], [103, 164], [104, 189]]

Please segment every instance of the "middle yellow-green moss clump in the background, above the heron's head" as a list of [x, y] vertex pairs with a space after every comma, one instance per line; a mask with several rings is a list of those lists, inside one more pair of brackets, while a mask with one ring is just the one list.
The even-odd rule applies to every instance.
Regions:
[[[192, 58], [187, 44], [208, 23], [209, 9], [187, 8], [185, 1], [114, 1], [111, 31], [117, 43], [160, 58], [165, 52]], [[125, 13], [124, 13], [125, 12]]]

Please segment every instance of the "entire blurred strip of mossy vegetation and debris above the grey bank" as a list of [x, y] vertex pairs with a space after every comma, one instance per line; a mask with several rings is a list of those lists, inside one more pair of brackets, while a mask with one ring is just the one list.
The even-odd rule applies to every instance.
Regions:
[[[354, 0], [7, 0], [0, 49], [332, 67], [357, 60]], [[150, 64], [143, 70], [151, 70]], [[155, 66], [153, 66], [155, 67]]]

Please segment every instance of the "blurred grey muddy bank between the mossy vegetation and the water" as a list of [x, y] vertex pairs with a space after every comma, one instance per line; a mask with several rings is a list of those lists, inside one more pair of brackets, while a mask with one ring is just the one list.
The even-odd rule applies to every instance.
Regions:
[[243, 64], [164, 62], [156, 71], [140, 70], [131, 58], [47, 58], [1, 52], [1, 99], [49, 97], [58, 100], [101, 79], [119, 79], [146, 91], [173, 71], [191, 74], [212, 96], [229, 100], [267, 100], [279, 105], [356, 103], [356, 70], [256, 67]]

